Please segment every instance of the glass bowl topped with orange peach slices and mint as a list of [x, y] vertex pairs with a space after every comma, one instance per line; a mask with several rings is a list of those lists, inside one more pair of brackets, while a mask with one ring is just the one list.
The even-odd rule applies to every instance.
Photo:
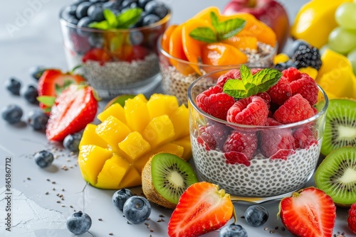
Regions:
[[158, 41], [162, 89], [187, 104], [189, 84], [208, 72], [271, 67], [276, 33], [249, 13], [224, 16], [215, 6], [180, 25], [171, 25]]

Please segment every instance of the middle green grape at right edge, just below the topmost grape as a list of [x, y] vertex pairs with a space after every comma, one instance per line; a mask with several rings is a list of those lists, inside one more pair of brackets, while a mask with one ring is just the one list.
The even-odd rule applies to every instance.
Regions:
[[337, 27], [331, 31], [328, 45], [331, 50], [346, 55], [356, 46], [356, 31]]

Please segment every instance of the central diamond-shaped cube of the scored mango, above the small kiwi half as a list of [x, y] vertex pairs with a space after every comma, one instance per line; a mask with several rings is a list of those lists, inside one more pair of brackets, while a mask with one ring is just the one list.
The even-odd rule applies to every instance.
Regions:
[[142, 138], [139, 132], [134, 131], [119, 143], [119, 148], [124, 151], [131, 160], [136, 160], [136, 158], [151, 150], [151, 145], [147, 140]]

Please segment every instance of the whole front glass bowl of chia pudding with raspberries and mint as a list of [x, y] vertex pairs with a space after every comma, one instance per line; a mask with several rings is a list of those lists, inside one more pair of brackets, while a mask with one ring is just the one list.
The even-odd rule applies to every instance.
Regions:
[[241, 65], [199, 77], [188, 100], [200, 180], [261, 201], [284, 197], [312, 177], [328, 97], [308, 74]]

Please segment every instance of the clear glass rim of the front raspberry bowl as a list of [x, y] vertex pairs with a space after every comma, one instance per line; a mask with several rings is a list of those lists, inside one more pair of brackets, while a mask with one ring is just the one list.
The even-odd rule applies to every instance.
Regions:
[[191, 106], [193, 106], [193, 108], [198, 111], [199, 114], [201, 114], [201, 116], [204, 116], [205, 118], [209, 118], [212, 121], [216, 121], [218, 123], [224, 123], [228, 126], [234, 127], [234, 128], [249, 128], [249, 129], [257, 129], [257, 130], [270, 130], [270, 129], [280, 129], [280, 128], [293, 128], [293, 127], [298, 127], [301, 125], [304, 125], [306, 123], [310, 123], [313, 122], [315, 120], [317, 120], [318, 118], [320, 118], [320, 116], [323, 116], [323, 114], [326, 113], [327, 109], [328, 109], [328, 105], [329, 105], [329, 99], [327, 94], [324, 92], [323, 88], [321, 88], [318, 84], [317, 87], [319, 89], [319, 92], [321, 92], [323, 94], [323, 97], [325, 99], [325, 104], [323, 106], [322, 109], [320, 109], [320, 111], [318, 112], [318, 114], [315, 114], [314, 116], [305, 119], [303, 121], [298, 121], [296, 123], [288, 123], [288, 124], [283, 124], [283, 125], [278, 125], [278, 126], [251, 126], [251, 125], [244, 125], [244, 124], [238, 124], [238, 123], [230, 123], [228, 121], [222, 120], [220, 118], [216, 118], [214, 116], [211, 116], [210, 114], [207, 114], [206, 112], [202, 111], [197, 104], [195, 104], [194, 99], [192, 98], [192, 88], [195, 86], [195, 84], [197, 84], [199, 81], [201, 81], [202, 79], [205, 79], [206, 77], [210, 77], [211, 75], [215, 74], [216, 72], [222, 72], [222, 71], [226, 71], [226, 69], [223, 70], [216, 70], [214, 72], [209, 72], [206, 75], [203, 75], [197, 79], [194, 80], [194, 82], [192, 82], [191, 84], [189, 84], [188, 87], [188, 101], [189, 104]]

